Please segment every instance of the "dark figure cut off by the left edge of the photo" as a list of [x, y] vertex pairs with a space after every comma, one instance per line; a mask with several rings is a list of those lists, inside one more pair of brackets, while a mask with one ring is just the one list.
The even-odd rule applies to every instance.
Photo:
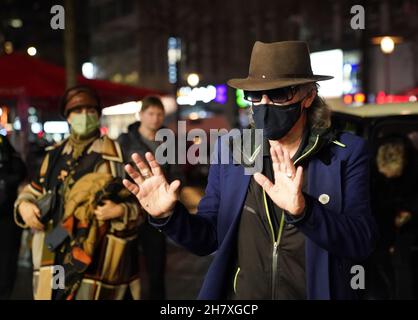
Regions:
[[[1, 128], [0, 128], [1, 129]], [[13, 203], [26, 167], [6, 136], [0, 134], [0, 299], [10, 299], [16, 279], [22, 230], [13, 221]]]

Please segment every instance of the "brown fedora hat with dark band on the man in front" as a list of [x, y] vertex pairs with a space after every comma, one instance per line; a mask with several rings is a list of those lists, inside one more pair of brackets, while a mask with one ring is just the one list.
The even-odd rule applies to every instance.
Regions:
[[308, 44], [303, 41], [263, 43], [251, 53], [247, 78], [231, 79], [229, 86], [243, 90], [269, 90], [332, 79], [312, 73]]

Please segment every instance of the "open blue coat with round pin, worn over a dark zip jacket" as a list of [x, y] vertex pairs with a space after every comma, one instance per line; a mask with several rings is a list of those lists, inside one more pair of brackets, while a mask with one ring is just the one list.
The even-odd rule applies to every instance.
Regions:
[[[222, 140], [218, 142], [218, 155], [228, 148]], [[324, 147], [328, 149], [329, 161], [324, 162], [318, 155], [311, 158], [305, 172], [310, 210], [295, 222], [306, 239], [308, 299], [355, 298], [356, 292], [350, 285], [354, 276], [351, 267], [368, 257], [377, 238], [370, 213], [366, 143], [347, 133], [341, 134], [339, 141], [345, 147]], [[232, 283], [231, 257], [250, 178], [244, 175], [241, 165], [211, 164], [197, 214], [189, 214], [178, 202], [168, 220], [151, 219], [154, 226], [197, 255], [216, 251], [199, 299], [226, 298], [227, 284]], [[318, 200], [324, 194], [329, 196], [326, 204]]]

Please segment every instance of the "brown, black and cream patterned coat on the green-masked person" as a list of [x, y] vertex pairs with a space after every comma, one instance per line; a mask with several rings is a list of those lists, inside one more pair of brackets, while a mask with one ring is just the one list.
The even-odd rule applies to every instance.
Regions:
[[[125, 211], [123, 216], [105, 223], [95, 219], [91, 203], [91, 191], [97, 187], [92, 183], [100, 180], [97, 177], [124, 176], [122, 152], [119, 144], [107, 136], [98, 137], [85, 149], [74, 162], [73, 148], [68, 140], [48, 148], [39, 174], [22, 190], [15, 202], [15, 222], [22, 228], [27, 226], [17, 211], [19, 204], [24, 200], [36, 202], [50, 190], [56, 192], [65, 212], [58, 218], [59, 221], [46, 223], [45, 231], [33, 233], [34, 297], [47, 300], [123, 299], [130, 289], [132, 297], [139, 299], [136, 240], [141, 210], [138, 203], [132, 197], [126, 198], [121, 202]], [[63, 187], [54, 189], [56, 185]], [[82, 211], [88, 213], [83, 216], [88, 219], [77, 216], [76, 212]], [[57, 250], [50, 251], [45, 239], [57, 224], [63, 226], [70, 237]], [[89, 247], [90, 250], [86, 249], [87, 238], [93, 239], [90, 243], [94, 245]], [[57, 294], [51, 288], [56, 265], [64, 266], [66, 273], [64, 294]]]

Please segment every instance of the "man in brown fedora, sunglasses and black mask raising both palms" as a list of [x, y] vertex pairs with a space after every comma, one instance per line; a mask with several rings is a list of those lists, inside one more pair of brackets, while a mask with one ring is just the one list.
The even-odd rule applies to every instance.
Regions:
[[[216, 252], [200, 299], [357, 297], [351, 270], [376, 238], [368, 155], [361, 138], [331, 129], [316, 85], [331, 78], [312, 73], [304, 42], [255, 43], [248, 77], [228, 84], [244, 90], [263, 130], [262, 172], [213, 163], [196, 215], [152, 154], [148, 164], [133, 155], [139, 172], [127, 166], [135, 183], [124, 184], [151, 223], [198, 255]], [[218, 155], [229, 138], [219, 139]]]

